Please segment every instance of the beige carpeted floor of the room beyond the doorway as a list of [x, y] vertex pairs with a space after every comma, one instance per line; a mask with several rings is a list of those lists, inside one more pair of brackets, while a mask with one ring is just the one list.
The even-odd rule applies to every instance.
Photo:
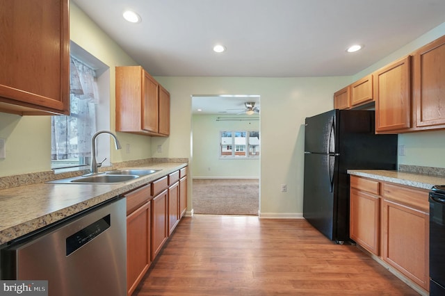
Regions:
[[258, 215], [258, 179], [193, 179], [193, 211], [211, 215]]

